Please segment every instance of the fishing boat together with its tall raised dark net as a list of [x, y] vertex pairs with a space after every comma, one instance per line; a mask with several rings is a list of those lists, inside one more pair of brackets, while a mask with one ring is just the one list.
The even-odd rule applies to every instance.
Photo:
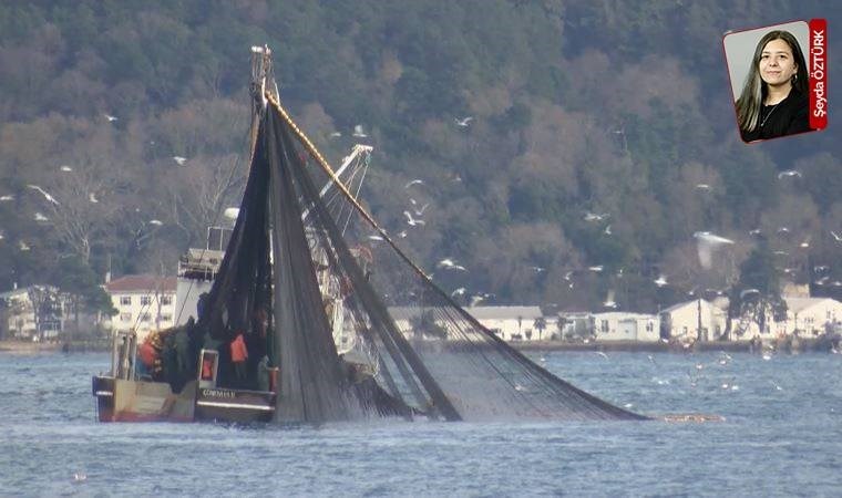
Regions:
[[335, 170], [281, 105], [270, 50], [251, 54], [234, 228], [179, 264], [195, 317], [140, 344], [115, 335], [93, 377], [100, 421], [647, 418], [544, 370], [440, 289], [361, 203], [364, 170]]

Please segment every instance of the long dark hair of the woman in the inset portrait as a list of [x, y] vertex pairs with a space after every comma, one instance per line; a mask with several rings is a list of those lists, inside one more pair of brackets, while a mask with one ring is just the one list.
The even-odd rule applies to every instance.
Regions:
[[807, 93], [807, 62], [795, 37], [789, 31], [781, 30], [766, 33], [758, 42], [757, 49], [754, 49], [754, 56], [751, 59], [751, 66], [749, 68], [748, 76], [746, 76], [746, 84], [742, 86], [742, 93], [737, 100], [737, 123], [740, 125], [740, 129], [746, 132], [753, 132], [758, 127], [760, 107], [762, 107], [763, 100], [769, 92], [767, 84], [760, 77], [760, 55], [763, 53], [766, 44], [772, 40], [783, 40], [790, 45], [792, 58], [798, 65], [792, 87], [798, 92]]

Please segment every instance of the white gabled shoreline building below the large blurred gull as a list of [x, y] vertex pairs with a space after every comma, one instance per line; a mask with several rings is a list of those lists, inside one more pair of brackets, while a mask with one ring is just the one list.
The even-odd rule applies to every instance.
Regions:
[[[660, 312], [664, 329], [671, 339], [713, 341], [725, 333], [728, 309], [697, 299], [674, 304]], [[701, 333], [699, 334], [699, 321]]]

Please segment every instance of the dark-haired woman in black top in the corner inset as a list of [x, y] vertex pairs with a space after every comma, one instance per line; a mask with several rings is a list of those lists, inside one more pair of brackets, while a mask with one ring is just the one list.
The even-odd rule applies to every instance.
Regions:
[[754, 49], [737, 123], [746, 142], [810, 132], [807, 62], [789, 31], [770, 31]]

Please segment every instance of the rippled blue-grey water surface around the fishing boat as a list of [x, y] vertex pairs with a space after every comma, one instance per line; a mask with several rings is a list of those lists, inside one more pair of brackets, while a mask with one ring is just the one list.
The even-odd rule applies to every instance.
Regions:
[[722, 423], [100, 424], [107, 355], [0, 353], [0, 496], [842, 496], [842, 355], [534, 354]]

